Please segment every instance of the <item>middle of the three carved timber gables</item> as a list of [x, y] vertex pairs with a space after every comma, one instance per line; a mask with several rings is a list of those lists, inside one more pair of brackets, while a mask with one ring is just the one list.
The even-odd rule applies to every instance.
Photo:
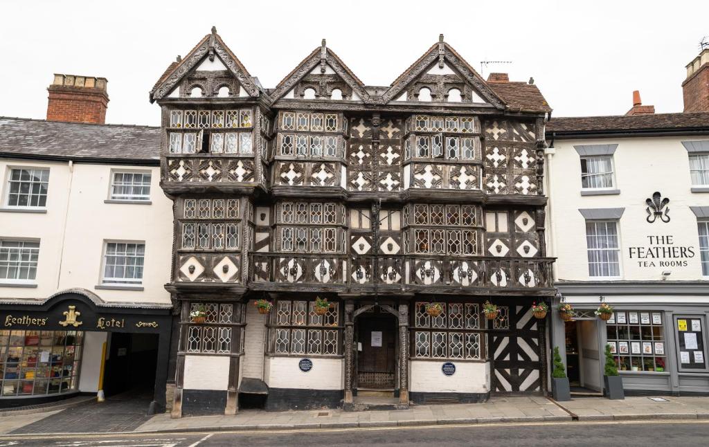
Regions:
[[[339, 91], [339, 95], [337, 94]], [[333, 92], [335, 97], [333, 98]], [[367, 101], [369, 94], [364, 84], [352, 73], [335, 52], [323, 45], [311, 52], [288, 76], [273, 94], [272, 101], [287, 99], [340, 99]]]

